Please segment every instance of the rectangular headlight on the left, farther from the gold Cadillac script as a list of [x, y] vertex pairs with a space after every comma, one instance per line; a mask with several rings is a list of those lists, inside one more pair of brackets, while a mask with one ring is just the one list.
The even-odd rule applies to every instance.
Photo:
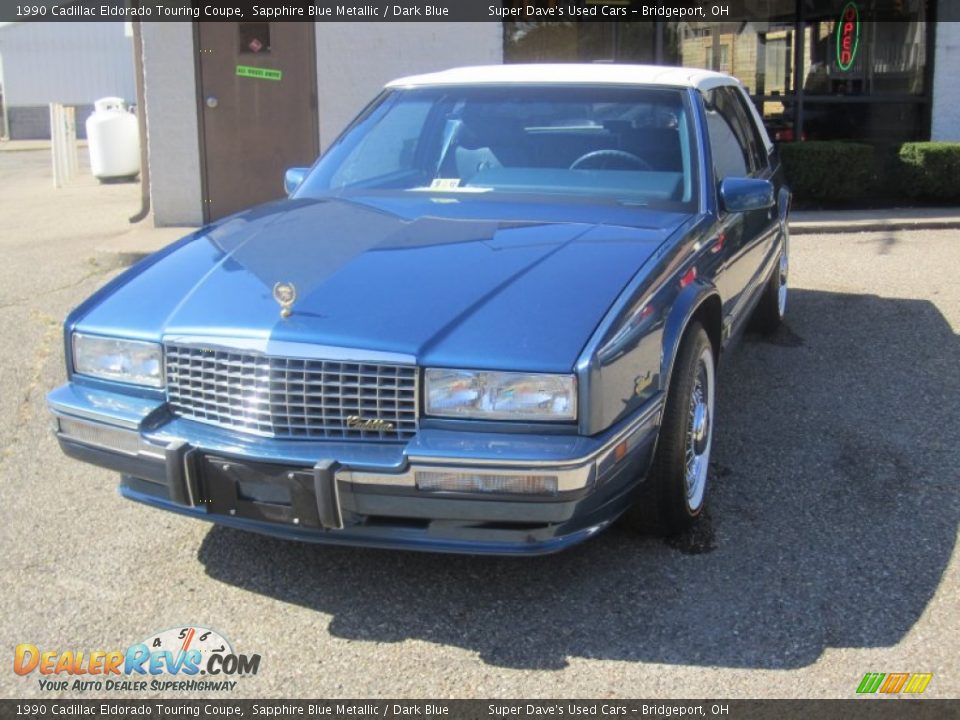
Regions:
[[104, 380], [163, 387], [163, 348], [141, 340], [74, 333], [73, 370]]

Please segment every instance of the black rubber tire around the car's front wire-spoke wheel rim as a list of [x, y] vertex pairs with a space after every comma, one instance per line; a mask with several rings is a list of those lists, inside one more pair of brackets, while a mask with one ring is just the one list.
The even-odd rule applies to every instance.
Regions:
[[[709, 376], [709, 412], [702, 485], [699, 499], [692, 503], [688, 494], [687, 451], [692, 442], [693, 393], [701, 373], [701, 363], [706, 365], [703, 370]], [[633, 506], [627, 511], [626, 521], [634, 529], [658, 535], [675, 535], [688, 529], [703, 512], [713, 433], [711, 416], [715, 388], [714, 348], [703, 326], [694, 321], [687, 328], [674, 361], [649, 475], [641, 485]]]

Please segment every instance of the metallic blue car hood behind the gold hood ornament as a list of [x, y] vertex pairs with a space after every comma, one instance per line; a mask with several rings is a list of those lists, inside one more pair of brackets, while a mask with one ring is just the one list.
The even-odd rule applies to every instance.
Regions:
[[[566, 372], [624, 286], [687, 217], [576, 201], [285, 200], [204, 228], [131, 268], [84, 309], [77, 328]], [[278, 282], [296, 288], [288, 318], [273, 298]]]

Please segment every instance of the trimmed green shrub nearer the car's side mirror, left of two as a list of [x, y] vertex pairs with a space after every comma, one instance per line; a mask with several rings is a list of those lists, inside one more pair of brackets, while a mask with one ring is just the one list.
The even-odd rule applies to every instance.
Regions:
[[846, 141], [810, 141], [779, 146], [787, 184], [794, 199], [844, 202], [867, 197], [874, 186], [872, 145]]

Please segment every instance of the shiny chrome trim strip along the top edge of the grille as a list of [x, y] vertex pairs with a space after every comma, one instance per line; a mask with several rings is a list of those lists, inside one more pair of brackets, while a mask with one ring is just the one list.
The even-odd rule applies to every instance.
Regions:
[[361, 350], [335, 345], [271, 340], [269, 337], [220, 337], [217, 335], [165, 335], [163, 345], [187, 345], [214, 350], [257, 353], [297, 360], [331, 360], [334, 362], [367, 363], [371, 365], [416, 365], [417, 359], [405, 353]]

